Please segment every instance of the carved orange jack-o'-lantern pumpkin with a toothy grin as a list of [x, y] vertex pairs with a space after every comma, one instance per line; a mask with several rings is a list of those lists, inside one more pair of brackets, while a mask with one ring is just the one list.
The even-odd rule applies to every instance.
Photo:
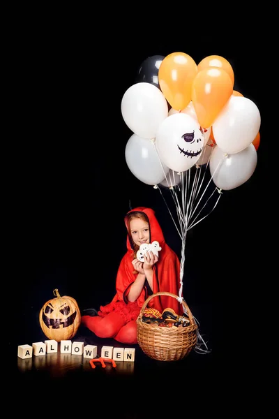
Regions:
[[80, 308], [74, 298], [60, 296], [57, 289], [53, 291], [56, 298], [47, 301], [40, 309], [40, 327], [48, 339], [72, 339], [80, 327]]

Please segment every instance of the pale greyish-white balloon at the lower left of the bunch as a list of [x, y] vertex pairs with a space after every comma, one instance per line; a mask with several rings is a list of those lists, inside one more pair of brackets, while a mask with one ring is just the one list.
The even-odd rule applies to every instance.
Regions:
[[169, 171], [169, 168], [161, 163], [154, 142], [137, 134], [130, 136], [125, 148], [125, 158], [133, 175], [148, 185], [159, 184]]

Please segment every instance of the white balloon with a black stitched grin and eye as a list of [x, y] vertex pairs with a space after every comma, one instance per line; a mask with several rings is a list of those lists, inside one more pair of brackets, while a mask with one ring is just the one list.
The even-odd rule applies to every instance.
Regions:
[[199, 159], [204, 147], [204, 131], [189, 115], [174, 113], [160, 124], [155, 144], [160, 160], [169, 169], [183, 172]]

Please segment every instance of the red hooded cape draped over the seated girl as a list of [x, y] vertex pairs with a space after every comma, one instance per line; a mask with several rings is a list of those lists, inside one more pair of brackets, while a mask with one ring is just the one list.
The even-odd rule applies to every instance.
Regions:
[[[155, 212], [151, 208], [146, 207], [137, 207], [131, 210], [130, 212], [144, 212], [149, 219], [149, 231], [150, 231], [150, 243], [154, 240], [159, 242], [161, 250], [159, 251], [158, 262], [153, 267], [153, 294], [158, 293], [159, 291], [167, 291], [174, 295], [179, 296], [179, 288], [180, 284], [180, 262], [179, 258], [174, 253], [174, 251], [167, 245], [165, 242], [165, 238], [163, 235], [163, 231], [160, 228], [158, 220], [156, 219]], [[128, 212], [128, 214], [130, 213]], [[124, 219], [126, 223], [126, 227], [128, 230], [127, 225], [127, 216]], [[128, 302], [127, 295], [130, 290], [130, 286], [133, 284], [137, 277], [137, 273], [134, 274], [135, 271], [132, 260], [134, 251], [131, 246], [130, 237], [127, 235], [127, 252], [121, 259], [121, 263], [119, 265], [119, 270], [116, 275], [116, 295], [110, 304], [107, 304], [105, 307], [100, 307], [101, 311], [99, 314], [104, 316], [108, 312], [112, 311], [112, 309], [116, 309], [118, 303], [119, 306], [123, 307], [123, 302], [125, 304], [130, 304]], [[140, 313], [140, 308], [144, 304], [144, 301], [148, 297], [147, 288], [144, 286], [142, 293], [137, 298], [137, 302], [132, 303], [133, 307], [136, 304], [137, 314]], [[176, 298], [171, 297], [169, 295], [159, 295], [156, 297], [151, 298], [149, 301], [149, 307], [153, 307], [163, 312], [166, 308], [172, 308], [176, 312], [176, 314], [183, 314], [183, 307], [180, 302], [176, 300]], [[119, 308], [120, 308], [119, 307]], [[128, 308], [128, 307], [127, 307]], [[119, 311], [119, 310], [117, 310]]]

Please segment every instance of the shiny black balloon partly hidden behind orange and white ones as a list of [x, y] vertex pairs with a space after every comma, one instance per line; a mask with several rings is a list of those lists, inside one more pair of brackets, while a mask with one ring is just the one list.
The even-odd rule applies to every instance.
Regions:
[[135, 82], [151, 83], [160, 89], [158, 72], [164, 58], [163, 55], [153, 55], [146, 58], [137, 71]]

